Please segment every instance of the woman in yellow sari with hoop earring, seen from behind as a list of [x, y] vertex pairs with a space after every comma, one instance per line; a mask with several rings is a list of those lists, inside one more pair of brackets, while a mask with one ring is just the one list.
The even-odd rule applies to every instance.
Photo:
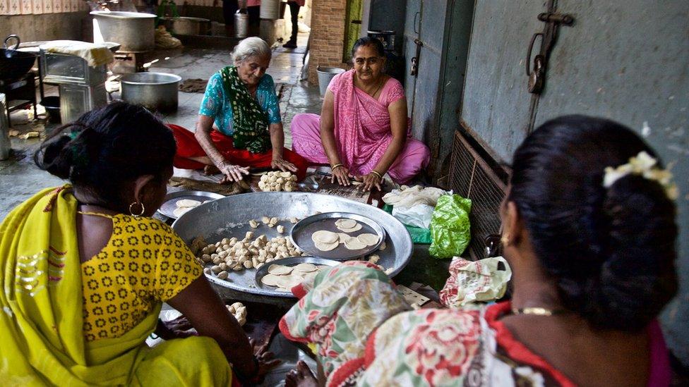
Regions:
[[[71, 185], [0, 225], [3, 385], [230, 386], [273, 364], [263, 348], [254, 355], [184, 242], [150, 218], [174, 153], [160, 121], [119, 102], [44, 142], [38, 166]], [[200, 336], [148, 348], [162, 302]]]

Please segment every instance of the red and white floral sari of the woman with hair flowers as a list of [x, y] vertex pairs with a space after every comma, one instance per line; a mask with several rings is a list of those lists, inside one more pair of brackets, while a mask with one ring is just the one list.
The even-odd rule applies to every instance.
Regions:
[[[292, 289], [280, 321], [290, 340], [315, 343], [327, 386], [574, 386], [500, 321], [510, 302], [474, 309], [412, 309], [376, 265], [350, 261]], [[649, 386], [667, 386], [658, 324]]]

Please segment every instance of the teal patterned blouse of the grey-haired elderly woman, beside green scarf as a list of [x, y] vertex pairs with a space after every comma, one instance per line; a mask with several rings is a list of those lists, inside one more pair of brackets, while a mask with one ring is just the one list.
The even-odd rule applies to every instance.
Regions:
[[[275, 82], [272, 81], [270, 75], [264, 74], [260, 78], [258, 88], [256, 89], [256, 99], [263, 110], [268, 112], [268, 122], [282, 122], [280, 118], [280, 104], [277, 101], [277, 94], [275, 94]], [[210, 80], [208, 80], [198, 113], [202, 116], [214, 118], [215, 126], [220, 130], [220, 133], [228, 136], [232, 136], [234, 133], [234, 128], [232, 128], [232, 105], [229, 103], [228, 97], [225, 96], [220, 72], [213, 74]]]

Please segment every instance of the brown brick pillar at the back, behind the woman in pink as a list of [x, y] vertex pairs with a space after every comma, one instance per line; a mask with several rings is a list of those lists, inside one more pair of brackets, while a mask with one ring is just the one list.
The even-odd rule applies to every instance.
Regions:
[[309, 85], [318, 85], [318, 66], [347, 68], [347, 65], [342, 63], [346, 7], [346, 0], [315, 0], [311, 4]]

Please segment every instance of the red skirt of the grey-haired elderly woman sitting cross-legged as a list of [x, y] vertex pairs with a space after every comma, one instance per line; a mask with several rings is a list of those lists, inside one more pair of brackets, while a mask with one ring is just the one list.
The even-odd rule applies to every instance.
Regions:
[[[172, 129], [174, 139], [177, 142], [177, 152], [174, 155], [174, 166], [184, 169], [203, 168], [205, 164], [189, 159], [189, 157], [208, 156], [205, 154], [205, 151], [198, 141], [196, 141], [194, 134], [190, 130], [186, 130], [179, 125], [174, 125], [174, 123], [169, 123], [167, 126]], [[251, 153], [246, 149], [235, 149], [232, 137], [224, 135], [217, 130], [210, 131], [210, 140], [212, 140], [213, 145], [215, 145], [217, 150], [229, 163], [253, 168], [270, 168], [272, 149], [264, 153]], [[282, 148], [282, 158], [294, 164], [296, 168], [299, 168], [299, 171], [296, 172], [296, 177], [299, 178], [299, 180], [306, 177], [308, 161], [306, 161], [304, 157], [299, 156], [299, 154], [287, 148]]]

